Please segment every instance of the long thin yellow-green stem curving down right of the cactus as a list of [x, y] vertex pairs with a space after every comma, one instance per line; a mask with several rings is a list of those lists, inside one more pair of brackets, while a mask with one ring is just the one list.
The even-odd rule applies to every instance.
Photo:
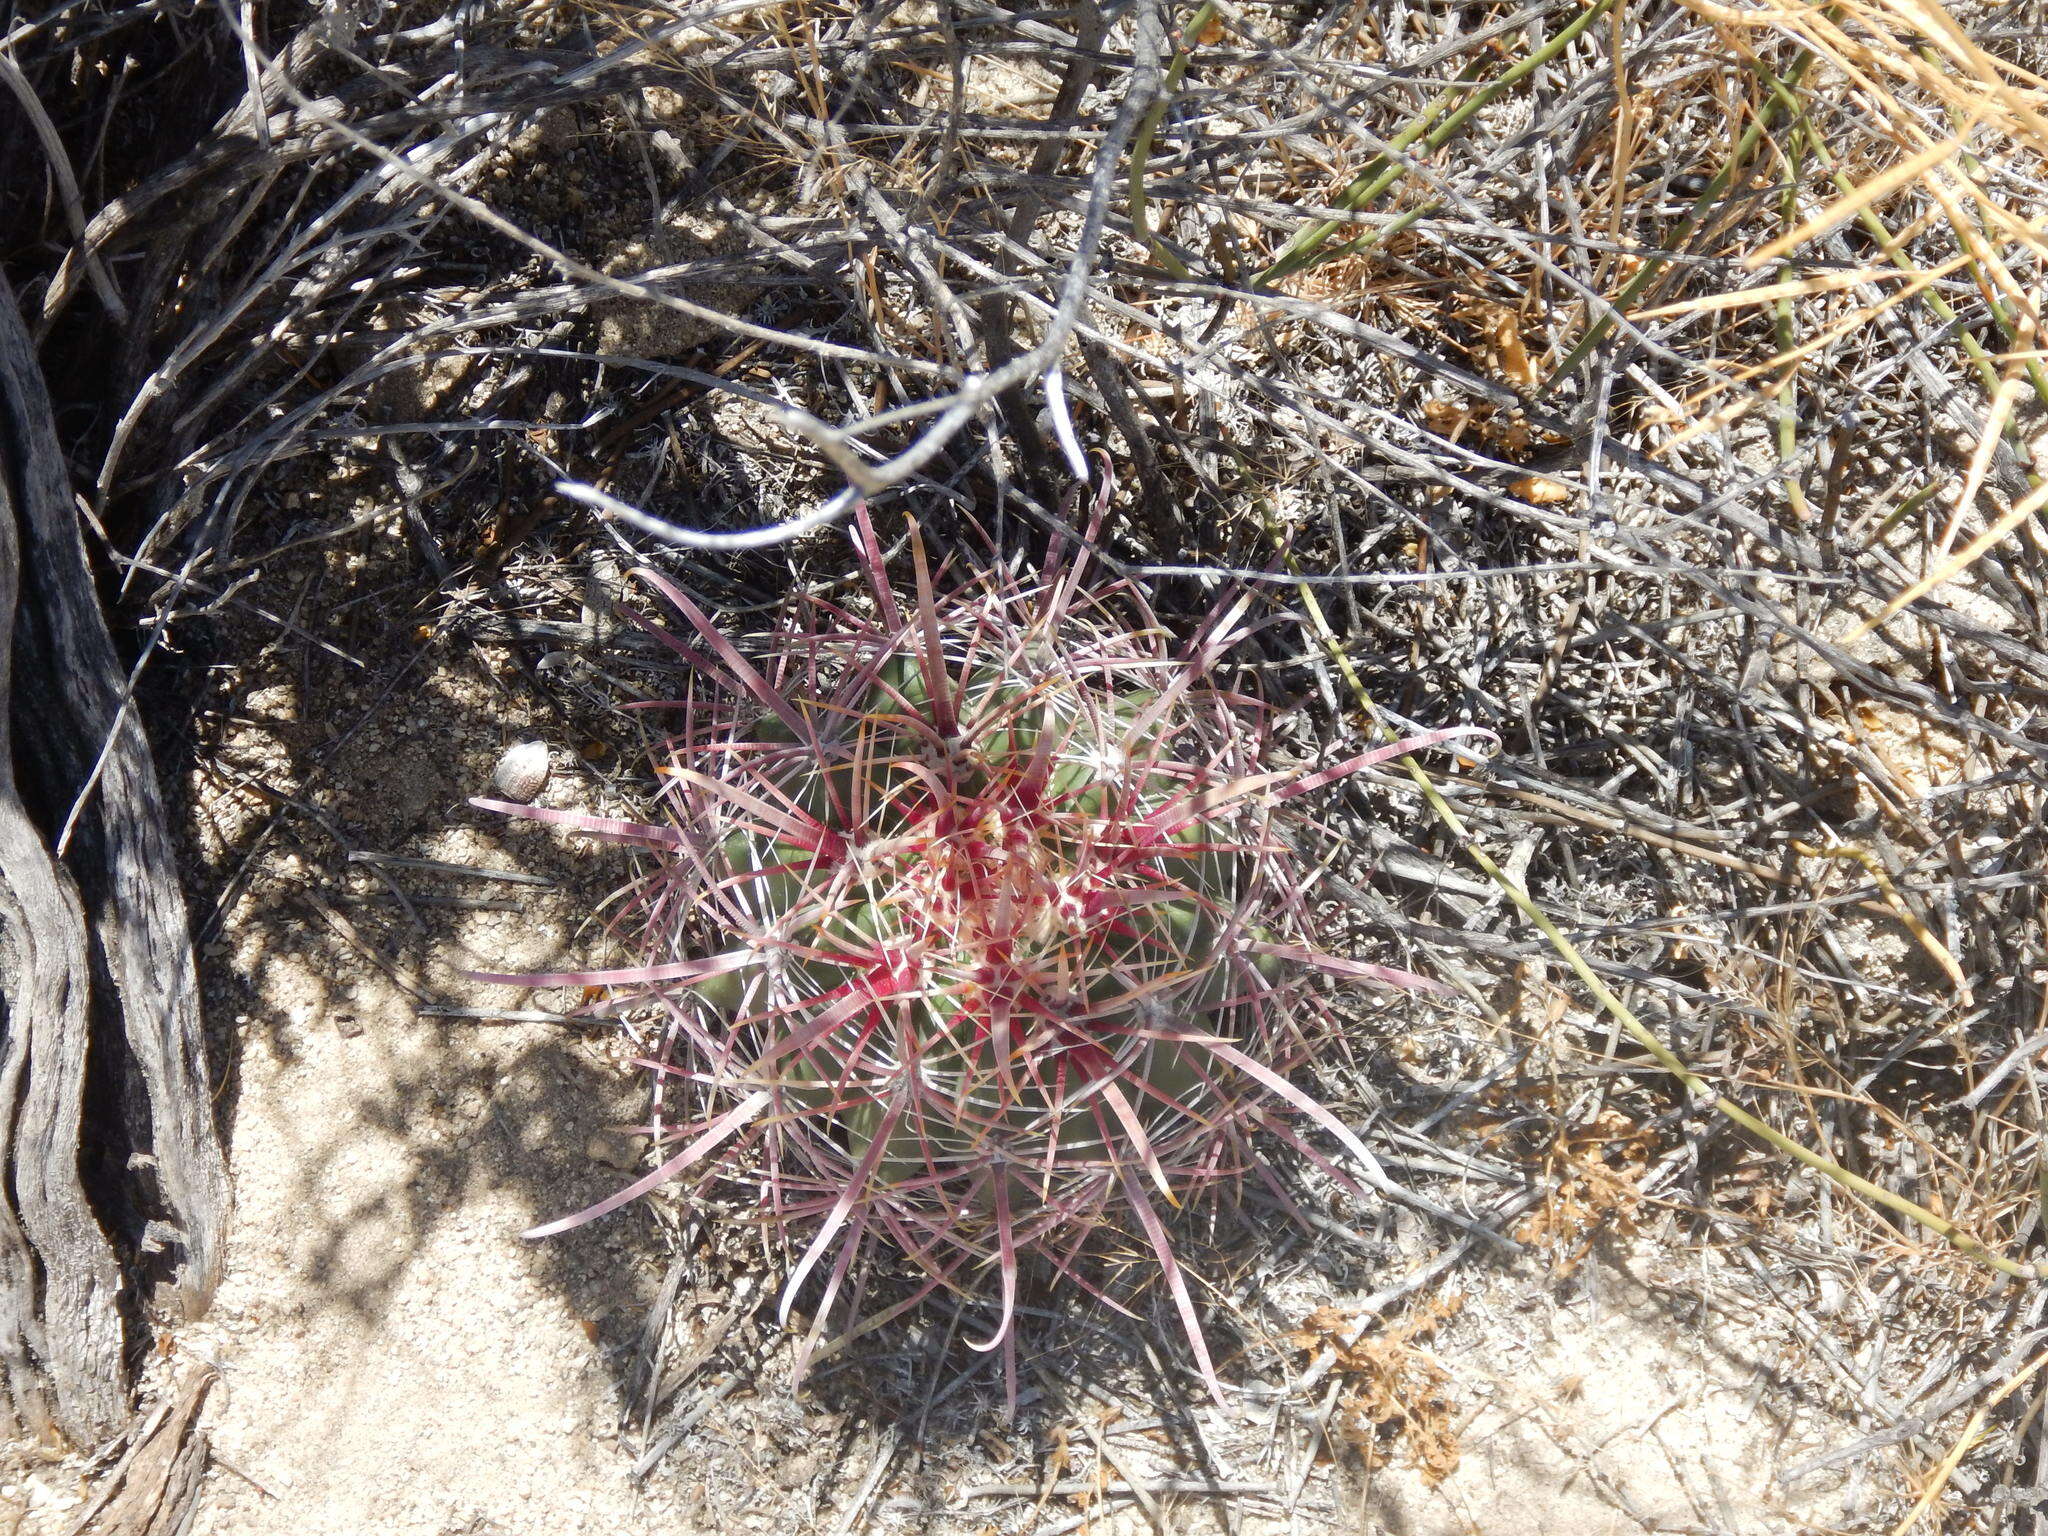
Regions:
[[[1294, 569], [1292, 555], [1288, 555], [1288, 567]], [[1337, 670], [1343, 674], [1343, 680], [1352, 688], [1352, 694], [1372, 717], [1374, 727], [1382, 735], [1391, 733], [1391, 727], [1386, 725], [1386, 721], [1380, 719], [1378, 707], [1372, 702], [1372, 694], [1366, 690], [1364, 680], [1358, 676], [1358, 670], [1352, 666], [1352, 659], [1343, 653], [1343, 645], [1329, 629], [1329, 621], [1323, 616], [1323, 604], [1317, 602], [1315, 598], [1315, 588], [1303, 582], [1300, 586], [1296, 586], [1296, 592], [1300, 594], [1300, 602], [1309, 612], [1317, 639], [1321, 641], [1323, 649], [1329, 651], [1329, 657], [1337, 666]], [[1393, 739], [1399, 739], [1399, 733], [1393, 733]], [[1458, 840], [1460, 848], [1464, 848], [1466, 858], [1470, 858], [1487, 874], [1487, 879], [1491, 879], [1497, 887], [1501, 887], [1507, 899], [1513, 901], [1516, 907], [1520, 907], [1522, 913], [1532, 924], [1536, 924], [1538, 932], [1542, 932], [1542, 936], [1550, 942], [1550, 946], [1559, 952], [1559, 956], [1563, 956], [1563, 961], [1577, 973], [1579, 981], [1585, 983], [1585, 989], [1593, 995], [1593, 1001], [1597, 1001], [1608, 1012], [1608, 1016], [1614, 1018], [1614, 1022], [1618, 1022], [1628, 1032], [1628, 1036], [1636, 1044], [1649, 1051], [1649, 1055], [1657, 1061], [1659, 1067], [1677, 1077], [1688, 1094], [1706, 1100], [1722, 1116], [1743, 1126], [1743, 1130], [1747, 1130], [1749, 1135], [1759, 1137], [1761, 1141], [1782, 1151], [1786, 1157], [1792, 1157], [1804, 1163], [1806, 1167], [1815, 1169], [1823, 1178], [1833, 1180], [1849, 1194], [1855, 1194], [1872, 1204], [1884, 1206], [1886, 1210], [1892, 1210], [1905, 1217], [1907, 1221], [1925, 1227], [1937, 1237], [1944, 1237], [1964, 1257], [1974, 1260], [1976, 1264], [1982, 1264], [2015, 1280], [2040, 1278], [2036, 1266], [2009, 1260], [2003, 1253], [1993, 1253], [1985, 1243], [1980, 1243], [1970, 1233], [1962, 1231], [1948, 1217], [1939, 1217], [1933, 1210], [1927, 1210], [1927, 1206], [1907, 1200], [1903, 1194], [1894, 1194], [1892, 1190], [1886, 1190], [1882, 1184], [1872, 1184], [1860, 1174], [1851, 1174], [1841, 1163], [1835, 1163], [1823, 1157], [1821, 1153], [1802, 1147], [1800, 1143], [1792, 1141], [1792, 1137], [1759, 1120], [1755, 1114], [1745, 1110], [1726, 1094], [1714, 1090], [1700, 1073], [1692, 1071], [1692, 1067], [1688, 1067], [1677, 1057], [1677, 1053], [1673, 1053], [1663, 1040], [1659, 1040], [1651, 1032], [1651, 1028], [1634, 1016], [1628, 1004], [1624, 1004], [1620, 997], [1608, 991], [1608, 985], [1599, 979], [1593, 967], [1587, 965], [1585, 956], [1579, 954], [1579, 948], [1569, 938], [1565, 938], [1563, 932], [1559, 932], [1556, 924], [1552, 924], [1550, 918], [1544, 913], [1544, 909], [1538, 907], [1534, 899], [1530, 899], [1528, 891], [1524, 891], [1522, 885], [1507, 870], [1495, 864], [1493, 858], [1487, 854], [1487, 850], [1473, 840], [1473, 834], [1466, 831], [1464, 823], [1458, 819], [1458, 813], [1452, 809], [1450, 801], [1444, 799], [1442, 791], [1438, 791], [1436, 782], [1430, 778], [1430, 774], [1421, 770], [1415, 758], [1403, 756], [1397, 758], [1397, 762], [1407, 770], [1409, 778], [1415, 780], [1415, 788], [1421, 791], [1421, 797], [1430, 803], [1430, 809], [1436, 813], [1438, 821], [1444, 823], [1444, 829]]]

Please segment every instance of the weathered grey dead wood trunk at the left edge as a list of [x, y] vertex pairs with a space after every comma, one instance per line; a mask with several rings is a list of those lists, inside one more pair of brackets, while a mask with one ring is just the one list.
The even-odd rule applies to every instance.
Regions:
[[[156, 766], [4, 279], [0, 700], [0, 1372], [23, 1427], [90, 1444], [127, 1413], [123, 1260], [176, 1249], [176, 1303], [203, 1311], [227, 1169]], [[88, 1061], [115, 1085], [98, 1116]], [[123, 1188], [88, 1194], [82, 1153], [106, 1145], [133, 1149]], [[111, 1235], [106, 1210], [150, 1221]]]

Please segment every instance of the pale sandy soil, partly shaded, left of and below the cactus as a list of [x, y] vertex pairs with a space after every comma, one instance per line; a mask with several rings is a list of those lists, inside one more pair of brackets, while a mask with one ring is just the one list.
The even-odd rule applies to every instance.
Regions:
[[[588, 745], [580, 727], [522, 698], [510, 653], [414, 666], [408, 631], [375, 635], [358, 670], [287, 664], [252, 629], [209, 702], [217, 737], [190, 778], [195, 864], [209, 870], [199, 922], [227, 889], [205, 969], [231, 1061], [238, 1217], [213, 1315], [164, 1337], [156, 1374], [219, 1370], [203, 1536], [1053, 1532], [1090, 1513], [1096, 1530], [1157, 1518], [1176, 1532], [1745, 1536], [1853, 1518], [1839, 1479], [1800, 1485], [1798, 1499], [1778, 1487], [1778, 1470], [1853, 1430], [1815, 1405], [1810, 1372], [1800, 1386], [1784, 1319], [1755, 1315], [1706, 1251], [1622, 1247], [1569, 1278], [1534, 1260], [1454, 1276], [1458, 1303], [1421, 1346], [1448, 1376], [1438, 1427], [1456, 1470], [1440, 1485], [1419, 1475], [1413, 1436], [1368, 1470], [1247, 1395], [1243, 1419], [1196, 1430], [1210, 1475], [1245, 1491], [1161, 1491], [1147, 1513], [1098, 1505], [1094, 1487], [1135, 1468], [1186, 1477], [1184, 1436], [1143, 1417], [1186, 1403], [1143, 1403], [1128, 1378], [1106, 1376], [1083, 1386], [1098, 1401], [1028, 1393], [1010, 1427], [987, 1372], [954, 1393], [963, 1354], [944, 1348], [928, 1356], [938, 1378], [922, 1366], [907, 1403], [889, 1397], [887, 1370], [799, 1397], [772, 1274], [729, 1231], [655, 1198], [522, 1241], [639, 1167], [639, 1143], [614, 1128], [639, 1106], [631, 1051], [596, 1028], [418, 1008], [567, 1001], [465, 973], [602, 954], [590, 920], [621, 856], [506, 825], [465, 797], [487, 793], [506, 741], [541, 735], [555, 764], [545, 803], [600, 809], [616, 754], [592, 764], [571, 750]], [[397, 684], [367, 690], [365, 672]], [[385, 885], [350, 852], [473, 872], [383, 864]], [[229, 883], [244, 862], [248, 879]], [[1389, 1231], [1366, 1266], [1276, 1264], [1264, 1296], [1276, 1331], [1319, 1307], [1350, 1315], [1358, 1290], [1440, 1251], [1413, 1223]], [[653, 1411], [637, 1372], [649, 1317], [670, 1372]], [[1339, 1372], [1311, 1403], [1339, 1442], [1348, 1419], [1372, 1442], [1354, 1389]], [[934, 1399], [950, 1403], [934, 1415]], [[637, 1477], [678, 1417], [686, 1434]], [[61, 1473], [12, 1485], [29, 1530], [61, 1528], [76, 1503]]]

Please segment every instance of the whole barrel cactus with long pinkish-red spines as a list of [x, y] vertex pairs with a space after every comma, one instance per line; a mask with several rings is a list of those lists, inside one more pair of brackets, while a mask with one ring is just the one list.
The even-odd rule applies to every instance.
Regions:
[[659, 1167], [528, 1235], [735, 1180], [803, 1241], [784, 1319], [821, 1270], [811, 1341], [889, 1251], [924, 1282], [856, 1331], [979, 1294], [999, 1311], [973, 1348], [1008, 1364], [1026, 1257], [1116, 1307], [1081, 1260], [1133, 1223], [1214, 1389], [1167, 1210], [1260, 1169], [1260, 1135], [1382, 1186], [1290, 1081], [1335, 1044], [1309, 979], [1427, 985], [1315, 948], [1290, 801], [1475, 731], [1274, 770], [1262, 707], [1212, 682], [1247, 598], [1174, 645], [1133, 586], [1083, 588], [1085, 551], [1036, 582], [932, 573], [913, 530], [901, 600], [864, 516], [856, 551], [864, 612], [795, 594], [745, 649], [641, 571], [690, 631], [649, 625], [692, 678], [655, 754], [662, 821], [477, 801], [647, 852], [623, 905], [643, 965], [483, 977], [606, 987], [662, 1030]]

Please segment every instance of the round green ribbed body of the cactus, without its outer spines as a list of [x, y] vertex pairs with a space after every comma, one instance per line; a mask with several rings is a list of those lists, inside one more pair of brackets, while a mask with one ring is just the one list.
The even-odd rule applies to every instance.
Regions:
[[[836, 870], [815, 850], [743, 831], [723, 840], [727, 870], [752, 877], [743, 881], [750, 903], [788, 946], [774, 985], [817, 999], [877, 995], [874, 1008], [819, 1049], [778, 1063], [774, 1087], [815, 1110], [840, 1096], [842, 1075], [864, 1057], [915, 1057], [930, 1092], [895, 1118], [874, 1161], [881, 1184], [926, 1174], [934, 1161], [967, 1163], [991, 1135], [1036, 1135], [1063, 1169], [1090, 1149], [1104, 1169], [1114, 1167], [1122, 1151], [1112, 1137], [1122, 1124], [1100, 1102], [1090, 1108], [1114, 1059], [1120, 1077], [1149, 1090], [1133, 1106], [1141, 1124], [1200, 1100], [1190, 1051], [1118, 1026], [1139, 1022], [1141, 1012], [1169, 1012], [1186, 1028], [1227, 1024], [1217, 1016], [1235, 983], [1219, 936], [1247, 856], [1178, 852], [1208, 836], [1200, 825], [1149, 850], [1087, 846], [1075, 836], [1141, 821], [1184, 791], [1180, 776], [1130, 776], [1118, 766], [1122, 735], [1155, 692], [1079, 700], [1090, 713], [1063, 719], [1061, 705], [1075, 700], [1059, 680], [983, 672], [965, 686], [948, 676], [946, 688], [965, 717], [948, 754], [905, 721], [905, 705], [920, 717], [930, 707], [924, 666], [911, 655], [881, 668], [862, 707], [831, 721], [838, 729], [821, 729], [825, 754], [807, 754], [776, 719], [756, 725], [758, 739], [791, 750], [776, 776], [782, 795], [838, 834], [844, 858], [860, 866], [836, 899], [821, 899]], [[1040, 760], [1040, 743], [1057, 743], [1057, 756]], [[928, 776], [948, 793], [936, 797]], [[1149, 899], [1120, 913], [1096, 909], [1133, 891]], [[907, 1008], [897, 1006], [905, 973], [922, 983]], [[1118, 1008], [1133, 989], [1159, 981], [1147, 1008]], [[721, 977], [702, 995], [727, 1018], [743, 1006], [739, 977]], [[889, 1040], [899, 1028], [920, 1038]], [[860, 1161], [887, 1110], [848, 1098], [836, 1124]], [[1028, 1206], [1032, 1169], [1020, 1163], [1012, 1180], [1012, 1202]], [[989, 1198], [983, 1190], [977, 1204]]]

